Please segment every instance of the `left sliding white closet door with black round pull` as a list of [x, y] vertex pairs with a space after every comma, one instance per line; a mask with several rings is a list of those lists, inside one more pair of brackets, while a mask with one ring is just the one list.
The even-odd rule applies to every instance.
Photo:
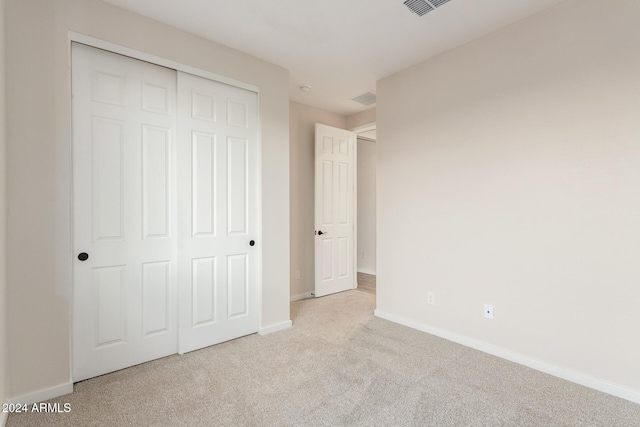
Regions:
[[88, 46], [72, 49], [79, 381], [177, 351], [176, 77]]

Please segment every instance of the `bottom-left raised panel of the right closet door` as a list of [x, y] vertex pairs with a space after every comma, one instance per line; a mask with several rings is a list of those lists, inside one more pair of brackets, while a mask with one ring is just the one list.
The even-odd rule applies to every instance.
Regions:
[[217, 295], [216, 257], [191, 260], [192, 326], [206, 326], [216, 322]]

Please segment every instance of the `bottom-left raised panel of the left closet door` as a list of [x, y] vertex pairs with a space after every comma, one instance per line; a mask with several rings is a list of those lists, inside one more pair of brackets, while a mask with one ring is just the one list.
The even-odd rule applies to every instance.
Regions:
[[95, 347], [126, 342], [124, 265], [93, 270]]

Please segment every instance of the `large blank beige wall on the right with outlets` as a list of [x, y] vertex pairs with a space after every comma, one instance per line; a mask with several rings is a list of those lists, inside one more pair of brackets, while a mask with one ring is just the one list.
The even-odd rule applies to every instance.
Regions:
[[378, 82], [378, 310], [637, 397], [640, 2], [601, 5]]

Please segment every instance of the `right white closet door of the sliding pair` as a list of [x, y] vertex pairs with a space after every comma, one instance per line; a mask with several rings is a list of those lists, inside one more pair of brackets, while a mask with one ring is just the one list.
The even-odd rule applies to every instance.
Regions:
[[257, 332], [257, 95], [178, 72], [180, 344]]

